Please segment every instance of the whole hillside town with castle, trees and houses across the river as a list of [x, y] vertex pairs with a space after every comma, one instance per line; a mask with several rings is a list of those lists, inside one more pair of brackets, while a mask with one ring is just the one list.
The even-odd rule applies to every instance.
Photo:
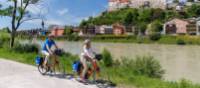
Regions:
[[[87, 35], [136, 35], [136, 34], [143, 34], [149, 35], [152, 34], [151, 26], [154, 24], [156, 28], [159, 28], [159, 31], [155, 31], [156, 33], [162, 35], [200, 35], [200, 0], [108, 0], [108, 8], [107, 11], [102, 12], [100, 16], [97, 17], [90, 17], [88, 20], [83, 20], [79, 26], [60, 26], [60, 25], [51, 25], [48, 28], [37, 28], [31, 30], [20, 30], [18, 33], [21, 34], [31, 34], [31, 35], [46, 35], [46, 34], [53, 34], [54, 36], [60, 37], [66, 35], [68, 33], [74, 33], [78, 36], [87, 36]], [[127, 11], [125, 11], [127, 9]], [[116, 20], [114, 17], [109, 18], [106, 16], [110, 14], [122, 14], [124, 12], [130, 12], [132, 10], [137, 10], [138, 14], [139, 10], [143, 10], [146, 14], [147, 11], [145, 9], [152, 9], [150, 15], [154, 15], [157, 13], [159, 14], [157, 18], [148, 20], [142, 20], [141, 23], [139, 19], [135, 19], [136, 23], [139, 26], [143, 23], [146, 24], [145, 31], [138, 30], [137, 25], [130, 23], [130, 14], [127, 13], [124, 18], [120, 18], [121, 20], [125, 20], [125, 22], [120, 22]], [[190, 13], [188, 10], [195, 9], [196, 12], [193, 12], [192, 15], [187, 15]], [[122, 12], [120, 12], [122, 11]], [[157, 13], [156, 13], [157, 12]], [[167, 13], [172, 13], [171, 17], [168, 17]], [[134, 12], [132, 12], [134, 13]], [[136, 14], [138, 16], [138, 14]], [[163, 18], [159, 18], [162, 14], [165, 15]], [[173, 15], [177, 15], [173, 16]], [[103, 18], [105, 16], [105, 18]], [[142, 15], [141, 15], [142, 16]], [[116, 16], [117, 17], [117, 16]], [[131, 15], [134, 17], [134, 14]], [[143, 16], [145, 17], [145, 15]], [[140, 18], [139, 16], [137, 18]], [[152, 18], [149, 16], [149, 18]], [[106, 20], [111, 20], [111, 22], [106, 23]], [[145, 18], [145, 19], [148, 19]], [[160, 23], [156, 24], [157, 19]], [[113, 21], [112, 21], [113, 20]], [[101, 22], [104, 21], [104, 22]], [[126, 22], [128, 21], [128, 22]], [[156, 21], [156, 22], [155, 22]], [[44, 25], [44, 23], [43, 23]], [[142, 28], [141, 28], [142, 29]], [[152, 29], [152, 30], [151, 30]], [[66, 31], [67, 30], [67, 31]], [[137, 33], [136, 33], [137, 32]]]

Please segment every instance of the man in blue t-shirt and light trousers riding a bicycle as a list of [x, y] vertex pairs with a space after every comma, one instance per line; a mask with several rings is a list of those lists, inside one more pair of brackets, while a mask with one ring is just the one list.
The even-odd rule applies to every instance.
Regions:
[[[43, 63], [44, 67], [47, 66], [47, 61], [49, 60], [49, 58], [51, 58], [52, 56], [55, 56], [53, 50], [51, 49], [52, 46], [55, 46], [55, 48], [58, 49], [58, 46], [53, 40], [53, 37], [54, 37], [53, 35], [49, 35], [42, 46], [42, 54], [45, 55], [45, 60]], [[54, 59], [56, 58], [54, 57]]]

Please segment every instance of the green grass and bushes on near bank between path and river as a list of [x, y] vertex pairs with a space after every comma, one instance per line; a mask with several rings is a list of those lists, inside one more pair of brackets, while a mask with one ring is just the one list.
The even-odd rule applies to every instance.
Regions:
[[[13, 49], [9, 48], [9, 37], [6, 33], [0, 35], [0, 57], [17, 62], [35, 65], [34, 58], [38, 55], [39, 48], [34, 44], [16, 43]], [[27, 47], [28, 46], [28, 47]], [[26, 48], [25, 48], [26, 47]], [[119, 87], [127, 88], [200, 88], [199, 84], [193, 84], [188, 80], [180, 82], [164, 81], [162, 76], [164, 70], [160, 63], [152, 56], [138, 56], [132, 59], [123, 57], [121, 60], [114, 60], [110, 52], [103, 50], [103, 60], [100, 77], [110, 80]], [[72, 73], [71, 65], [78, 60], [77, 55], [65, 53], [60, 58], [62, 69]]]

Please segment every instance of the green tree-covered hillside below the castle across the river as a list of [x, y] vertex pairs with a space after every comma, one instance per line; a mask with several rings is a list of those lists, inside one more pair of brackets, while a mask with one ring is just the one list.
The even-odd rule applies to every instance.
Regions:
[[[112, 2], [121, 1], [121, 3], [122, 2], [125, 3], [128, 0], [110, 0], [110, 1]], [[138, 0], [134, 0], [134, 1], [138, 1]], [[160, 0], [160, 2], [162, 1], [163, 0]], [[179, 3], [177, 4], [177, 6], [178, 7], [174, 7], [171, 9], [163, 9], [162, 7], [161, 8], [160, 7], [158, 8], [123, 7], [118, 10], [112, 10], [112, 11], [109, 10], [109, 11], [102, 12], [100, 16], [89, 17], [88, 20], [83, 20], [80, 24], [80, 27], [83, 29], [83, 32], [90, 32], [91, 34], [94, 34], [95, 29], [98, 29], [99, 26], [105, 27], [105, 25], [107, 25], [107, 28], [104, 28], [104, 30], [107, 30], [111, 28], [110, 26], [114, 27], [117, 24], [118, 26], [121, 25], [120, 28], [125, 29], [125, 32], [122, 31], [121, 34], [131, 32], [132, 34], [141, 33], [145, 35], [148, 32], [147, 29], [150, 29], [150, 31], [160, 30], [160, 31], [155, 31], [155, 32], [161, 33], [163, 29], [160, 27], [160, 25], [162, 26], [167, 21], [170, 21], [172, 19], [176, 18], [176, 19], [180, 19], [184, 21], [185, 20], [189, 21], [190, 19], [198, 18], [200, 14], [200, 5], [198, 4], [194, 3], [192, 5], [185, 5], [185, 4]], [[161, 29], [149, 28], [151, 27], [150, 26], [151, 24], [160, 24], [160, 25], [155, 25], [157, 27], [153, 27], [153, 28], [161, 28]], [[194, 27], [191, 27], [191, 25], [189, 26], [190, 28], [194, 28]]]

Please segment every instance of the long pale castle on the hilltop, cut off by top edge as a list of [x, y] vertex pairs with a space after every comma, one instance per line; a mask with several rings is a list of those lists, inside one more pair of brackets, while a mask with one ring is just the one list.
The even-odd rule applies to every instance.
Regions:
[[109, 0], [108, 11], [131, 7], [151, 7], [166, 9], [170, 0]]

